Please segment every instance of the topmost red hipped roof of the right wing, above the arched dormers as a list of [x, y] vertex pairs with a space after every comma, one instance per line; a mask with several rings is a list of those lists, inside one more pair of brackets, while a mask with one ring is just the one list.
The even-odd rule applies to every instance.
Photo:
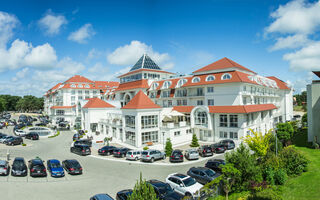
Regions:
[[214, 63], [211, 63], [205, 67], [202, 67], [196, 71], [194, 71], [193, 73], [198, 73], [198, 72], [205, 72], [205, 71], [212, 71], [212, 70], [219, 70], [219, 69], [226, 69], [226, 68], [239, 68], [248, 72], [252, 72], [255, 74], [255, 72], [251, 71], [250, 69], [230, 60], [229, 58], [222, 58]]

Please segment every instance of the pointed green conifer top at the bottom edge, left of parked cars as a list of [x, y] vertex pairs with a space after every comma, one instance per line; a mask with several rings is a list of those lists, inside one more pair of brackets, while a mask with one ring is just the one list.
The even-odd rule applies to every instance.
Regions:
[[128, 200], [158, 200], [158, 198], [153, 187], [146, 180], [142, 180], [142, 174], [140, 173], [140, 180], [135, 184]]

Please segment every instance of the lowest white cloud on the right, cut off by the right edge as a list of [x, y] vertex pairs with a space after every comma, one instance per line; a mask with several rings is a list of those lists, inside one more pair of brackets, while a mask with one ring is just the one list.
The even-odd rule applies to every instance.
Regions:
[[287, 53], [283, 59], [289, 61], [290, 68], [294, 71], [320, 70], [320, 41], [309, 44], [296, 52]]

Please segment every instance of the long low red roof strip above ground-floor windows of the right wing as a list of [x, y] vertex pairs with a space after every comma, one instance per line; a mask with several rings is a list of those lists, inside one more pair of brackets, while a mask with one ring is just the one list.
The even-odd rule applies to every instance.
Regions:
[[210, 113], [253, 113], [273, 110], [274, 104], [239, 105], [239, 106], [208, 106]]

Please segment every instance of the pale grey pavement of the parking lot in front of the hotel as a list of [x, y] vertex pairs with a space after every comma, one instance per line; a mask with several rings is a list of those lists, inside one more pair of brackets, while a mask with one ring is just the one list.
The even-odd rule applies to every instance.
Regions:
[[[13, 134], [12, 127], [2, 129], [0, 132]], [[27, 177], [0, 177], [1, 199], [89, 199], [97, 193], [108, 193], [115, 197], [123, 189], [132, 189], [140, 172], [145, 179], [158, 179], [165, 181], [168, 174], [174, 172], [186, 173], [192, 166], [204, 166], [206, 160], [185, 163], [184, 165], [157, 165], [139, 164], [137, 162], [117, 162], [97, 159], [93, 156], [79, 156], [70, 153], [73, 131], [62, 131], [55, 138], [40, 138], [40, 140], [25, 140], [26, 147], [8, 147], [0, 144], [1, 159], [6, 158], [10, 152], [11, 162], [14, 157], [24, 157], [26, 161], [40, 157], [43, 160], [77, 159], [83, 167], [82, 175], [66, 175], [64, 178], [32, 178]], [[93, 149], [93, 151], [95, 151]], [[110, 156], [109, 156], [110, 157]], [[108, 157], [107, 157], [108, 158]], [[223, 158], [223, 155], [215, 155]], [[116, 158], [115, 158], [116, 159]], [[138, 161], [139, 162], [139, 161]], [[159, 161], [158, 161], [159, 162]], [[157, 163], [157, 162], [155, 162]]]

